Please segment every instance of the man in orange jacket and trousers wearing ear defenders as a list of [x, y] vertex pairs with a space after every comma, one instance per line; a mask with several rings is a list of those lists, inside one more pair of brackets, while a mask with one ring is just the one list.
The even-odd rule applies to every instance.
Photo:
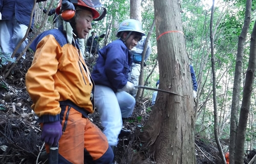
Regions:
[[91, 6], [85, 0], [60, 1], [61, 26], [31, 44], [35, 55], [26, 86], [47, 152], [59, 145], [58, 163], [109, 164], [114, 158], [108, 139], [88, 119], [94, 112], [94, 82], [76, 40], [85, 38], [100, 16]]

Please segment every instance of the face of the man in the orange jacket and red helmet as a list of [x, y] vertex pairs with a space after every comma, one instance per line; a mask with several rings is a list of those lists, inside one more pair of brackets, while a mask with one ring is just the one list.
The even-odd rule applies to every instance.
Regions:
[[79, 12], [76, 19], [77, 37], [84, 39], [92, 29], [91, 22], [93, 20], [93, 15], [92, 12], [88, 10], [79, 10], [77, 12]]

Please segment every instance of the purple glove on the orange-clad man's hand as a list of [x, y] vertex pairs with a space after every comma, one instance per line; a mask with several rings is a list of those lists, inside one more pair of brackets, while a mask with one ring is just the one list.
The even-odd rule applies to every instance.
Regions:
[[58, 145], [61, 135], [62, 127], [59, 121], [42, 124], [41, 140], [49, 146]]

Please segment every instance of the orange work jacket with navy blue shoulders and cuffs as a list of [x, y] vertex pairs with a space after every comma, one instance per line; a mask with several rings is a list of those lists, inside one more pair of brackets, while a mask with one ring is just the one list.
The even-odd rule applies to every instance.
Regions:
[[79, 51], [66, 33], [53, 29], [41, 33], [30, 48], [35, 52], [26, 74], [27, 91], [39, 123], [60, 120], [60, 103], [71, 101], [83, 116], [94, 111], [94, 83]]

